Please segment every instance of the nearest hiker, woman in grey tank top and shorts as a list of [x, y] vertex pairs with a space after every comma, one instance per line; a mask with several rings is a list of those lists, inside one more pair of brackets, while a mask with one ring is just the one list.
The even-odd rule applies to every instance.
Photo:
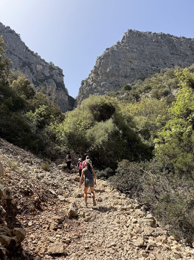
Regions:
[[93, 170], [93, 168], [91, 168], [89, 161], [85, 162], [86, 167], [82, 170], [82, 175], [80, 178], [80, 184], [79, 184], [79, 188], [81, 188], [81, 182], [83, 179], [83, 175], [85, 176], [85, 182], [84, 182], [84, 207], [87, 207], [87, 192], [88, 192], [88, 188], [90, 187], [90, 192], [91, 192], [91, 197], [93, 199], [93, 205], [96, 206], [96, 201], [95, 201], [95, 196], [94, 196], [94, 185], [96, 185], [96, 174]]

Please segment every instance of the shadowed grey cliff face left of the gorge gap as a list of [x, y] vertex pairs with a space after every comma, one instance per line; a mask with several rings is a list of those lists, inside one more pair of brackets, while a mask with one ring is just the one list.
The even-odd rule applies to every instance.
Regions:
[[55, 99], [61, 111], [72, 110], [75, 100], [69, 96], [64, 85], [62, 69], [41, 59], [22, 42], [19, 34], [2, 23], [1, 35], [7, 44], [7, 56], [12, 60], [13, 68], [23, 72], [35, 89], [43, 89], [46, 95]]

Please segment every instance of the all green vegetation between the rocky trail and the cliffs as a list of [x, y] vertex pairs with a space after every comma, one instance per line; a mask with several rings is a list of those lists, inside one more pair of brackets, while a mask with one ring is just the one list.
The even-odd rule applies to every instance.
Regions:
[[1, 37], [0, 137], [35, 153], [55, 146], [89, 154], [98, 177], [194, 240], [194, 66], [90, 96], [65, 114], [10, 66]]

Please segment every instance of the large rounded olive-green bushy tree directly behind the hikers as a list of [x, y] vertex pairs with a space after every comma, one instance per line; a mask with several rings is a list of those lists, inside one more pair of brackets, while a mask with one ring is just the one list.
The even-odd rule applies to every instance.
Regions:
[[74, 111], [67, 112], [59, 127], [51, 126], [62, 149], [89, 153], [96, 166], [115, 168], [117, 161], [150, 159], [151, 148], [132, 129], [118, 101], [90, 96]]

